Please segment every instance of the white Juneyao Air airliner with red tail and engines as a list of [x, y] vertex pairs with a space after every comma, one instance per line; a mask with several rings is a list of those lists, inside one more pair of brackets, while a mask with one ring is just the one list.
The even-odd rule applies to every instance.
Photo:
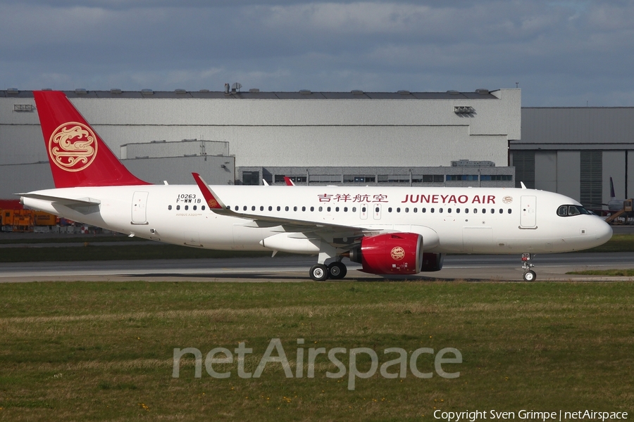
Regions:
[[[24, 205], [130, 236], [220, 250], [318, 255], [311, 279], [438, 271], [443, 254], [521, 254], [601, 245], [612, 229], [576, 200], [521, 188], [151, 185], [137, 179], [68, 98], [35, 91], [55, 189]], [[326, 262], [330, 262], [326, 265]]]

